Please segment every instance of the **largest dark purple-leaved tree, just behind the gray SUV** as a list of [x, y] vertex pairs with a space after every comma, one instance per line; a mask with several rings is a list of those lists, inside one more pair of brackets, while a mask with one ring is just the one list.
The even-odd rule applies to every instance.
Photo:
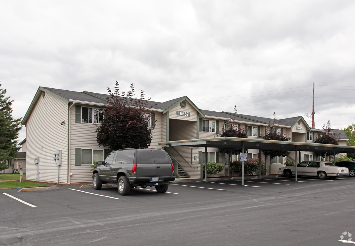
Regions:
[[124, 92], [120, 93], [117, 81], [114, 92], [108, 88], [109, 104], [96, 130], [98, 144], [110, 150], [149, 147], [153, 130], [149, 127], [149, 121], [154, 125], [155, 119], [151, 119], [151, 114], [147, 113], [148, 101], [144, 100], [143, 91], [140, 99], [133, 98], [134, 91], [131, 84], [131, 90], [125, 96]]

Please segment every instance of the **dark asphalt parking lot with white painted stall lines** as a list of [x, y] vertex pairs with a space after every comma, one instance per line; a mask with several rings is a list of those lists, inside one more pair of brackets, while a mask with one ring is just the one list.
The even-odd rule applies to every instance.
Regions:
[[[116, 187], [0, 190], [0, 245], [343, 245], [355, 178], [283, 176]], [[18, 199], [18, 200], [16, 200]], [[24, 203], [25, 202], [25, 203]], [[26, 204], [27, 203], [27, 204]], [[341, 238], [343, 236], [343, 238]]]

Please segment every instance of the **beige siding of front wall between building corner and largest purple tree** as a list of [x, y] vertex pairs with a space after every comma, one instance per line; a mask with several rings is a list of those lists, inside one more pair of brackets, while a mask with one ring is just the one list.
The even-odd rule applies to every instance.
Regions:
[[[92, 105], [81, 105], [88, 108], [99, 108]], [[75, 166], [75, 148], [81, 149], [104, 149], [96, 140], [96, 126], [92, 123], [75, 123], [75, 107], [70, 109], [70, 183], [84, 183], [92, 181], [91, 165]]]

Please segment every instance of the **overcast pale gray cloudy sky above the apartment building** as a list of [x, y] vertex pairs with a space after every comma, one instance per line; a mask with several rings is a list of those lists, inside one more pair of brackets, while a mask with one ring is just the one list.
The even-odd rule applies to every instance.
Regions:
[[[355, 1], [0, 0], [0, 81], [13, 116], [39, 86], [107, 93], [315, 127], [355, 123]], [[139, 93], [137, 93], [139, 96]], [[26, 137], [26, 128], [20, 141]]]

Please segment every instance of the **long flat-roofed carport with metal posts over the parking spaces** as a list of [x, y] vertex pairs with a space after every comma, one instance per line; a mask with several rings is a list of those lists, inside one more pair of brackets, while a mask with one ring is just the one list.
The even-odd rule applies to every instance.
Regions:
[[[216, 137], [216, 138], [204, 138], [204, 139], [189, 139], [181, 141], [162, 142], [159, 145], [168, 146], [191, 146], [191, 147], [204, 147], [207, 160], [207, 148], [239, 148], [244, 151], [246, 149], [258, 149], [261, 154], [261, 150], [286, 150], [296, 151], [296, 181], [297, 181], [297, 151], [299, 152], [299, 158], [301, 151], [317, 151], [317, 152], [332, 152], [334, 156], [337, 153], [354, 153], [355, 146], [344, 146], [334, 144], [319, 144], [319, 143], [300, 143], [290, 141], [275, 141], [264, 139], [251, 139], [251, 138], [236, 138], [236, 137]], [[335, 158], [334, 158], [335, 164]], [[207, 167], [205, 163], [205, 181], [207, 181]], [[242, 185], [244, 185], [244, 161], [242, 162]], [[259, 178], [261, 178], [261, 161], [259, 160]]]

